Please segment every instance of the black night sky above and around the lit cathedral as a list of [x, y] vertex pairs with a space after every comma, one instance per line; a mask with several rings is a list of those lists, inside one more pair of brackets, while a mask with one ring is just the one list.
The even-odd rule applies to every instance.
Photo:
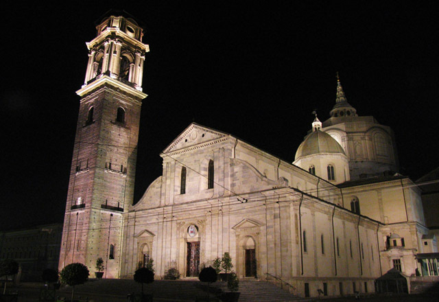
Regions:
[[64, 218], [85, 42], [110, 8], [143, 23], [150, 45], [135, 201], [161, 175], [159, 153], [192, 121], [294, 161], [311, 112], [329, 117], [337, 71], [357, 113], [393, 128], [402, 174], [416, 180], [439, 166], [433, 7], [257, 2], [3, 3], [0, 230]]

